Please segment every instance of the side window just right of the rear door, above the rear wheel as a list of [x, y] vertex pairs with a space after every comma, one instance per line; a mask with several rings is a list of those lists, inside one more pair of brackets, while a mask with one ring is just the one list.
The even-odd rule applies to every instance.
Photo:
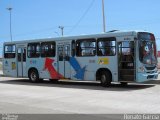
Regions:
[[29, 43], [28, 44], [28, 57], [29, 58], [40, 57], [40, 43]]

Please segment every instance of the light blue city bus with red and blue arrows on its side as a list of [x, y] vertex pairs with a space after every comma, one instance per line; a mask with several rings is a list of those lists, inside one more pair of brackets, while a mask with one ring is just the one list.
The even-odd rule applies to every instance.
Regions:
[[4, 75], [35, 83], [76, 80], [109, 86], [158, 77], [156, 40], [145, 31], [5, 42], [3, 47]]

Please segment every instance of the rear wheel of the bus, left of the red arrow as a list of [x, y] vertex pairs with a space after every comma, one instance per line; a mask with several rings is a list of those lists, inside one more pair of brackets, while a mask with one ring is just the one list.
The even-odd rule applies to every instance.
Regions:
[[34, 82], [34, 83], [40, 82], [38, 71], [34, 69], [31, 70], [29, 72], [29, 79], [31, 82]]

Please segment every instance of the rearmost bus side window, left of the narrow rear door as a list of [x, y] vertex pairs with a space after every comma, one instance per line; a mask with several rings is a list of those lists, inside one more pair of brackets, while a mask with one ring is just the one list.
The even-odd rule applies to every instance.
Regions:
[[16, 46], [15, 45], [5, 45], [4, 47], [4, 58], [15, 58]]

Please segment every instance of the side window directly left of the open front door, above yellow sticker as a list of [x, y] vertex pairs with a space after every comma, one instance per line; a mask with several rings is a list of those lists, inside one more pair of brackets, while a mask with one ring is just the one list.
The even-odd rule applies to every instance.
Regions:
[[98, 56], [114, 56], [116, 54], [115, 38], [98, 39]]

